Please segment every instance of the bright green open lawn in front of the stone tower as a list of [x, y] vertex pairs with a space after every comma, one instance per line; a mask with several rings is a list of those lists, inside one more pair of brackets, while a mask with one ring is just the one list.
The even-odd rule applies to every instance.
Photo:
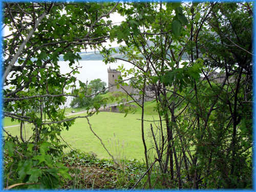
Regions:
[[[86, 114], [79, 114], [80, 116]], [[155, 115], [154, 119], [158, 117]], [[122, 113], [100, 112], [89, 118], [94, 132], [102, 139], [108, 150], [115, 158], [138, 159], [144, 158], [144, 148], [141, 140], [141, 119], [140, 114], [128, 114], [124, 117]], [[145, 120], [153, 120], [152, 115], [145, 115]], [[9, 119], [5, 118], [4, 124], [8, 124]], [[26, 124], [26, 137], [31, 135], [30, 127]], [[146, 142], [151, 143], [150, 122], [144, 122]], [[6, 128], [11, 135], [19, 136], [19, 126]], [[109, 155], [102, 147], [100, 141], [89, 129], [85, 118], [76, 119], [69, 131], [61, 133], [73, 148], [84, 152], [94, 152], [99, 158], [108, 158]], [[69, 149], [67, 149], [69, 150]]]

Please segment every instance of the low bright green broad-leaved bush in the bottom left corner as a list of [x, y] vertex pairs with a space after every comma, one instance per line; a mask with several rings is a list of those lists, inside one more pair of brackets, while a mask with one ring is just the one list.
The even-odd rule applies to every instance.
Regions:
[[46, 140], [34, 144], [9, 138], [4, 150], [5, 183], [22, 183], [22, 188], [60, 188], [60, 181], [71, 179], [68, 168], [55, 160], [62, 147]]

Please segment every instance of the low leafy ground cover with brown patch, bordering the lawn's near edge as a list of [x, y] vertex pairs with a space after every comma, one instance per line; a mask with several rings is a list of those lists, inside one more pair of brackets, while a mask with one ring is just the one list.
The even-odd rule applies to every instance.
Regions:
[[126, 160], [122, 169], [112, 160], [98, 159], [96, 154], [71, 151], [60, 160], [70, 167], [74, 179], [67, 179], [65, 188], [131, 188], [144, 166], [137, 160]]

